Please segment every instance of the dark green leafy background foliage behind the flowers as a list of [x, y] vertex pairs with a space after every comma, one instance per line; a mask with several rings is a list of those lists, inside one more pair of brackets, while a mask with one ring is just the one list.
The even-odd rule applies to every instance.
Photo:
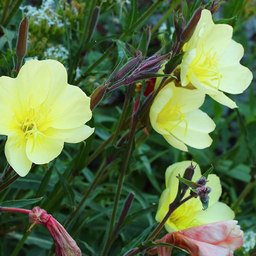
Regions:
[[[5, 0], [0, 3], [1, 17], [7, 2], [11, 1]], [[174, 31], [173, 9], [184, 8], [183, 13], [188, 20], [193, 8], [201, 2], [209, 3], [180, 0], [48, 0], [43, 4], [37, 0], [12, 2], [12, 17], [8, 22], [3, 18], [1, 20], [0, 75], [11, 76], [11, 70], [16, 63], [14, 52], [19, 22], [26, 11], [24, 6], [32, 5], [34, 9], [30, 10], [26, 58], [59, 60], [68, 70], [69, 83], [80, 86], [87, 95], [108, 79], [123, 56], [124, 45], [128, 57], [131, 57], [137, 48], [143, 50], [143, 41], [140, 43], [143, 28], [150, 25], [152, 32], [147, 56], [160, 49], [162, 38], [166, 44], [163, 53], [167, 53], [170, 51]], [[95, 13], [92, 12], [95, 6], [100, 6], [100, 15], [92, 34], [88, 28], [91, 20], [96, 21]], [[219, 12], [214, 16], [216, 22], [234, 27], [233, 39], [241, 43], [245, 50], [241, 63], [253, 72], [256, 55], [254, 15], [253, 1], [230, 0], [223, 2]], [[91, 127], [95, 126], [95, 134], [85, 143], [65, 144], [61, 155], [48, 166], [33, 167], [26, 177], [19, 178], [0, 194], [0, 202], [43, 197], [37, 203], [28, 201], [25, 207], [32, 209], [38, 205], [62, 224], [67, 224], [67, 219], [72, 216], [69, 225], [66, 225], [67, 231], [77, 241], [84, 255], [101, 254], [106, 242], [105, 231], [111, 217], [123, 158], [122, 148], [117, 150], [108, 142], [116, 130], [125, 93], [126, 88], [119, 87], [97, 106], [90, 124]], [[137, 94], [135, 91], [133, 94], [135, 100]], [[182, 160], [193, 159], [199, 163], [202, 170], [207, 170], [213, 164], [214, 173], [220, 177], [223, 187], [221, 201], [234, 209], [236, 219], [245, 232], [256, 232], [255, 81], [242, 95], [234, 96], [234, 100], [239, 106], [238, 110], [224, 107], [206, 97], [202, 110], [216, 123], [216, 129], [211, 133], [213, 144], [207, 149], [189, 148], [189, 152], [185, 153], [172, 148], [161, 135], [149, 127], [150, 136], [142, 130], [137, 133], [117, 216], [130, 191], [135, 193], [135, 200], [109, 255], [118, 255], [133, 248], [139, 239], [143, 241], [150, 232], [147, 228], [155, 226], [157, 204], [164, 189], [165, 170], [172, 163]], [[130, 102], [127, 117], [131, 116], [132, 106], [133, 102]], [[118, 138], [124, 135], [127, 129], [128, 125]], [[8, 167], [4, 156], [5, 141], [6, 137], [1, 135], [0, 170]], [[104, 148], [101, 147], [102, 144]], [[102, 151], [97, 154], [99, 147]], [[75, 210], [78, 209], [77, 206], [101, 163], [111, 152], [117, 152], [116, 157], [107, 166], [99, 185], [81, 204], [81, 208]], [[249, 193], [244, 198], [244, 194], [241, 196], [242, 192]], [[0, 255], [51, 254], [49, 252], [52, 248], [52, 238], [44, 227], [37, 226], [32, 234], [26, 233], [29, 227], [27, 216], [1, 214], [0, 227]], [[250, 235], [250, 238], [252, 237], [253, 233]], [[183, 254], [180, 251], [176, 253]], [[242, 248], [236, 254], [249, 253]]]

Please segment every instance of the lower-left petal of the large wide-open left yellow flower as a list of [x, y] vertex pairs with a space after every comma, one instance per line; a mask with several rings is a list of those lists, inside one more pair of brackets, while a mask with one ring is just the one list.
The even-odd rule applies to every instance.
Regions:
[[8, 136], [5, 144], [5, 156], [8, 163], [17, 172], [24, 177], [29, 172], [32, 161], [26, 155], [26, 140], [22, 138], [22, 132]]

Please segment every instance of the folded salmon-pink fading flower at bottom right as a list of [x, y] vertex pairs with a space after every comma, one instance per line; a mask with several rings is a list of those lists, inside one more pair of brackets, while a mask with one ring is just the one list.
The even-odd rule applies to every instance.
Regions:
[[[187, 250], [191, 256], [231, 256], [243, 245], [243, 231], [236, 220], [218, 221], [202, 226], [183, 229], [165, 235], [155, 241], [176, 245]], [[155, 247], [148, 254], [168, 256], [171, 247]]]

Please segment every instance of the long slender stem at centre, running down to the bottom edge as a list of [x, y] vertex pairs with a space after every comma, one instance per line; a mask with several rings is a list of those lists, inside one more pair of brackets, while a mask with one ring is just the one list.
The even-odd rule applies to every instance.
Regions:
[[103, 254], [102, 254], [103, 256], [107, 255], [107, 253], [110, 249], [111, 243], [112, 243], [111, 238], [112, 238], [113, 228], [114, 228], [115, 219], [116, 219], [116, 210], [117, 210], [117, 206], [118, 206], [118, 201], [120, 199], [120, 194], [121, 194], [121, 190], [122, 190], [122, 186], [123, 186], [123, 182], [124, 182], [125, 173], [128, 168], [128, 164], [129, 164], [129, 160], [130, 160], [130, 155], [131, 155], [131, 151], [132, 151], [132, 146], [133, 146], [133, 141], [134, 141], [134, 137], [135, 137], [135, 131], [136, 131], [137, 124], [138, 124], [138, 119], [135, 117], [132, 118], [130, 132], [129, 132], [129, 138], [128, 138], [126, 150], [124, 153], [124, 158], [123, 158], [120, 176], [119, 176], [119, 180], [118, 180], [118, 185], [117, 185], [117, 189], [116, 189], [114, 206], [113, 206], [113, 211], [112, 211], [111, 220], [110, 220], [110, 226], [109, 226], [109, 230], [108, 230], [107, 242], [105, 244]]

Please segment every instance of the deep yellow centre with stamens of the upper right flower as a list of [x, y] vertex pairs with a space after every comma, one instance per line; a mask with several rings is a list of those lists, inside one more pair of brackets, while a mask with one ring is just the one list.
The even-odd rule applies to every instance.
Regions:
[[211, 83], [207, 83], [208, 86], [212, 88], [216, 88], [218, 90], [222, 75], [219, 72], [219, 66], [218, 66], [219, 58], [217, 53], [214, 52], [214, 54], [211, 54], [211, 51], [213, 49], [214, 47], [209, 49], [208, 52], [204, 52], [204, 43], [203, 43], [201, 54], [199, 55], [199, 57], [194, 58], [194, 60], [190, 64], [190, 67], [193, 69], [193, 72], [196, 77], [201, 77], [201, 79], [204, 79], [204, 80], [205, 79], [208, 80], [208, 78], [210, 78], [211, 81], [218, 80], [217, 86], [213, 86]]

